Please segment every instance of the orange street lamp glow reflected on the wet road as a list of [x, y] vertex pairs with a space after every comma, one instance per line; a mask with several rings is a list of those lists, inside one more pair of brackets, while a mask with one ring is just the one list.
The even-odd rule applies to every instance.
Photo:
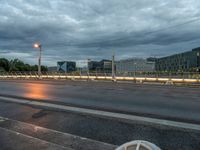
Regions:
[[25, 97], [31, 99], [47, 99], [47, 84], [27, 83]]

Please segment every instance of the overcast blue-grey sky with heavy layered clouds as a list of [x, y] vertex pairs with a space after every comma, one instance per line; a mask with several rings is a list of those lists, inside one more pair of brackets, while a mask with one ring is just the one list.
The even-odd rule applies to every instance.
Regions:
[[166, 56], [200, 46], [199, 0], [0, 0], [0, 57], [37, 63]]

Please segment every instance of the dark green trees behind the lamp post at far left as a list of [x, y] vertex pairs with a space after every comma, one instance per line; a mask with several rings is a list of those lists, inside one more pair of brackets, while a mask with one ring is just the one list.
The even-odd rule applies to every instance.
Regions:
[[[37, 71], [38, 65], [29, 65], [19, 59], [8, 60], [0, 58], [0, 72]], [[46, 66], [41, 66], [41, 71], [48, 71]]]

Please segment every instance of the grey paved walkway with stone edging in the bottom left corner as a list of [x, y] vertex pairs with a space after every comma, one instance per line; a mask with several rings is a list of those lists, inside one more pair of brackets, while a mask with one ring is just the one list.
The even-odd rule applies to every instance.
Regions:
[[115, 145], [0, 117], [1, 149], [114, 150]]

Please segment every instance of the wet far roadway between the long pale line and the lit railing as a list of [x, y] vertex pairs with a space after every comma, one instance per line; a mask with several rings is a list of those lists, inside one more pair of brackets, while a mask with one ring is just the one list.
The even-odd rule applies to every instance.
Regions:
[[0, 81], [0, 95], [200, 123], [200, 88], [81, 81]]

